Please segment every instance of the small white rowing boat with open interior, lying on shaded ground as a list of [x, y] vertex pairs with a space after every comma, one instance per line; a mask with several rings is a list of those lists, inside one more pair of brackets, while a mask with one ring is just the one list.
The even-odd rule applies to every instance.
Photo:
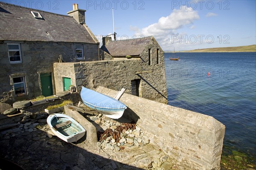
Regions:
[[[56, 127], [56, 125], [70, 121], [71, 124], [65, 127]], [[65, 114], [54, 113], [48, 116], [47, 124], [52, 132], [65, 142], [77, 142], [85, 134], [85, 129], [75, 119]]]

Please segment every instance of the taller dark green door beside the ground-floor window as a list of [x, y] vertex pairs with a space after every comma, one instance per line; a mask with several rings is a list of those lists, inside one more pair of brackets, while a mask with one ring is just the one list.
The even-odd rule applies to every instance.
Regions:
[[52, 96], [52, 74], [51, 73], [44, 73], [40, 74], [41, 79], [41, 88], [42, 88], [42, 95]]

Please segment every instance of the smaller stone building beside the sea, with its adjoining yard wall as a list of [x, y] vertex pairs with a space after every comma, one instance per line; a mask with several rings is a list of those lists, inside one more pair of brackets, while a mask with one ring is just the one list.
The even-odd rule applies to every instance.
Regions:
[[167, 104], [164, 52], [154, 37], [122, 41], [104, 37], [100, 55], [108, 60], [54, 63], [56, 91], [61, 91], [63, 77], [70, 77], [78, 91], [82, 85], [125, 88], [125, 93]]

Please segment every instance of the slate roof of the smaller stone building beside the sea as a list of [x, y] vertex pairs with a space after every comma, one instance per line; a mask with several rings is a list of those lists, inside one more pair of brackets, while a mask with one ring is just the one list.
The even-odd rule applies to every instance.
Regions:
[[110, 41], [101, 49], [113, 57], [139, 56], [153, 37]]

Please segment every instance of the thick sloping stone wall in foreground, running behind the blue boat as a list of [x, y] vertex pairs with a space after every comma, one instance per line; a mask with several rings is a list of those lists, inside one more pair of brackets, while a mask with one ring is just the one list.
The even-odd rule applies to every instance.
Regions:
[[[98, 87], [99, 93], [115, 96], [117, 91]], [[164, 149], [184, 169], [220, 170], [225, 126], [214, 119], [192, 111], [123, 94], [121, 102], [130, 108], [137, 125], [151, 142]], [[125, 112], [124, 117], [132, 117]]]

